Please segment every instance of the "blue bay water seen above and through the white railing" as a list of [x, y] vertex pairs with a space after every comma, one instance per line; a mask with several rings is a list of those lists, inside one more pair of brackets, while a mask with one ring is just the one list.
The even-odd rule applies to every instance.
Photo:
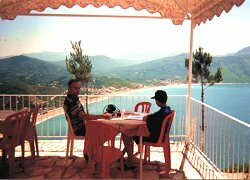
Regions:
[[[153, 96], [155, 91], [157, 89], [163, 89], [165, 90], [168, 95], [169, 95], [169, 101], [168, 101], [168, 105], [170, 107], [172, 107], [173, 109], [178, 109], [178, 111], [176, 111], [176, 122], [175, 125], [171, 128], [171, 132], [170, 134], [173, 134], [172, 132], [175, 131], [175, 134], [183, 134], [182, 129], [185, 129], [185, 104], [186, 104], [186, 98], [185, 97], [178, 97], [175, 98], [174, 101], [172, 101], [172, 98], [174, 98], [173, 96], [171, 97], [171, 95], [187, 95], [187, 89], [188, 86], [187, 85], [177, 85], [177, 86], [162, 86], [162, 87], [155, 87], [155, 88], [150, 88], [150, 89], [143, 89], [140, 91], [136, 91], [136, 92], [130, 92], [130, 93], [126, 93], [126, 95], [148, 95], [149, 97]], [[147, 97], [146, 99], [140, 99], [139, 98], [134, 98], [133, 101], [128, 101], [126, 99], [126, 97], [122, 97], [122, 99], [116, 98], [114, 99], [113, 97], [110, 98], [109, 100], [105, 100], [104, 102], [98, 102], [97, 103], [97, 107], [96, 107], [96, 103], [93, 103], [92, 105], [90, 105], [90, 109], [92, 109], [93, 111], [97, 110], [97, 113], [102, 113], [102, 109], [101, 107], [103, 106], [102, 103], [105, 104], [116, 104], [120, 109], [126, 109], [126, 110], [132, 110], [134, 107], [134, 104], [136, 104], [139, 101], [151, 101], [153, 103], [152, 106], [152, 112], [157, 111], [157, 106], [155, 105], [154, 100], [151, 100], [149, 97]], [[201, 87], [200, 85], [193, 85], [192, 86], [192, 97], [201, 100]], [[144, 98], [144, 97], [142, 97]], [[250, 84], [215, 84], [214, 86], [211, 86], [209, 88], [207, 88], [205, 90], [205, 103], [224, 112], [227, 113], [235, 118], [238, 118], [239, 120], [242, 120], [248, 124], [250, 124], [250, 107], [249, 107], [249, 103], [250, 103]], [[104, 104], [104, 106], [105, 106]], [[180, 107], [180, 105], [182, 107]], [[126, 107], [124, 107], [126, 106]], [[209, 124], [211, 122], [207, 122], [208, 127], [211, 129], [211, 124]], [[181, 126], [181, 130], [178, 128]], [[49, 128], [47, 128], [49, 127]], [[223, 126], [224, 127], [224, 126]], [[230, 134], [233, 135], [235, 137], [235, 140], [238, 139], [238, 134], [236, 134], [238, 131], [237, 129], [235, 129], [235, 127], [233, 127], [233, 125], [230, 125]], [[37, 125], [37, 133], [38, 136], [65, 136], [66, 135], [66, 120], [65, 120], [65, 116], [64, 114], [58, 115], [56, 117], [53, 117], [51, 119], [49, 119], [48, 121], [44, 121], [43, 123], [40, 123]], [[180, 130], [180, 131], [179, 131]], [[178, 132], [179, 131], [179, 132]], [[211, 139], [218, 139], [220, 138], [220, 134], [226, 132], [226, 130], [220, 129], [220, 130], [215, 130], [214, 131], [214, 138]], [[240, 130], [240, 136], [239, 137], [243, 137], [243, 130]], [[210, 136], [210, 135], [209, 135]], [[249, 130], [247, 130], [246, 132], [246, 138], [249, 139]], [[48, 137], [45, 137], [46, 139], [49, 139]], [[53, 138], [55, 139], [55, 138]], [[230, 140], [230, 144], [232, 145], [233, 143], [231, 142], [232, 138]], [[209, 141], [210, 142], [210, 141]], [[228, 137], [226, 136], [226, 139], [224, 141], [222, 141], [223, 144], [225, 143], [229, 143], [228, 141]], [[247, 157], [248, 157], [248, 151], [249, 151], [249, 145], [247, 143], [248, 141], [246, 141], [246, 148], [245, 148], [245, 153], [246, 153], [246, 161], [247, 161]], [[241, 141], [239, 142], [240, 147], [242, 146], [242, 138]], [[237, 144], [237, 143], [236, 143]], [[216, 146], [219, 146], [219, 144], [214, 144], [214, 147], [216, 148]], [[210, 143], [208, 144], [208, 147], [211, 149]], [[236, 147], [237, 148], [237, 145]], [[225, 151], [225, 153], [229, 153], [227, 152], [227, 149]], [[230, 152], [232, 153], [232, 152]], [[235, 159], [237, 156], [237, 149], [234, 152], [235, 155]], [[209, 156], [212, 156], [211, 152], [209, 154]], [[215, 157], [217, 157], [217, 155], [215, 155]], [[209, 157], [211, 158], [211, 157]], [[227, 159], [230, 160], [230, 164], [232, 164], [231, 160], [231, 154], [230, 157], [226, 156], [226, 161]], [[240, 162], [242, 162], [242, 159], [240, 157]], [[234, 162], [237, 163], [237, 162]], [[224, 165], [220, 165], [220, 167], [224, 167]]]

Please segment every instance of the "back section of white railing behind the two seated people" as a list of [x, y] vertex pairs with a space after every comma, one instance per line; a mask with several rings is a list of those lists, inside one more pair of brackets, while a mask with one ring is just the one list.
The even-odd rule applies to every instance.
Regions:
[[[86, 96], [79, 96], [86, 110]], [[37, 133], [41, 138], [65, 138], [67, 136], [67, 123], [62, 110], [65, 95], [0, 95], [0, 108], [21, 110], [24, 107], [32, 108], [36, 103], [42, 103], [39, 116], [37, 118]], [[131, 96], [131, 95], [105, 95], [88, 96], [88, 112], [91, 114], [103, 113], [103, 108], [107, 104], [115, 104], [120, 110], [134, 109], [134, 105], [140, 101], [151, 101], [151, 112], [157, 111], [157, 106], [150, 96]], [[171, 136], [174, 140], [185, 140], [185, 114], [186, 96], [170, 96], [168, 105], [176, 110], [175, 120]]]

